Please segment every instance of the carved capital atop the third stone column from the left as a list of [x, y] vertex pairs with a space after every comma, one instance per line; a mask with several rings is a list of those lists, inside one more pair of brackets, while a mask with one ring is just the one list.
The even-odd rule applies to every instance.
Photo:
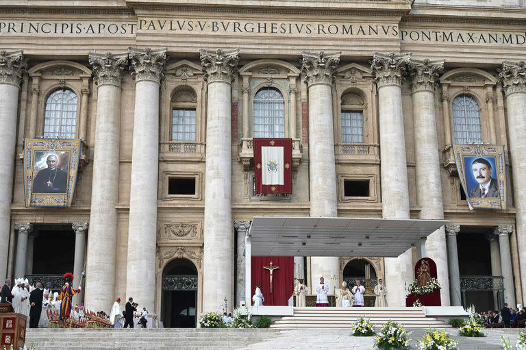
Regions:
[[149, 47], [147, 49], [128, 49], [129, 60], [132, 71], [132, 76], [136, 82], [141, 80], [151, 80], [160, 83], [164, 77], [162, 70], [168, 57], [166, 56], [166, 49], [152, 51]]

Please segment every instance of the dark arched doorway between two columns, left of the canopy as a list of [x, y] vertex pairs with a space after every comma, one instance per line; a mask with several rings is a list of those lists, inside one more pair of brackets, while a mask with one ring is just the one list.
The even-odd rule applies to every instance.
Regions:
[[190, 260], [175, 259], [164, 266], [161, 320], [165, 328], [197, 325], [197, 268]]

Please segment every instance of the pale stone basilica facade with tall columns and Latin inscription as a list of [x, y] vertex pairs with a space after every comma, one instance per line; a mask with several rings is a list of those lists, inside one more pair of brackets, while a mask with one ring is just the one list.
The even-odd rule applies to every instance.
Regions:
[[[386, 279], [388, 303], [402, 305], [427, 255], [444, 305], [460, 305], [464, 228], [489, 232], [488, 275], [503, 277], [505, 301], [522, 303], [524, 4], [488, 1], [479, 16], [465, 1], [412, 2], [1, 0], [10, 7], [0, 8], [0, 278], [30, 274], [35, 232], [67, 225], [88, 308], [133, 296], [161, 314], [164, 268], [186, 259], [199, 314], [243, 299], [242, 237], [255, 215], [445, 218], [422, 247], [365, 258]], [[262, 88], [284, 100], [292, 195], [253, 193]], [[18, 155], [24, 138], [43, 136], [47, 99], [63, 89], [77, 96], [84, 145], [73, 205], [25, 208]], [[461, 95], [479, 104], [482, 142], [505, 145], [514, 201], [500, 212], [462, 199], [451, 147]], [[177, 110], [195, 115], [185, 140], [174, 139]], [[362, 113], [360, 142], [342, 135], [342, 112]], [[195, 191], [174, 193], [174, 179]], [[366, 195], [347, 193], [349, 182], [366, 182]], [[308, 286], [342, 278], [350, 260], [308, 258]]]

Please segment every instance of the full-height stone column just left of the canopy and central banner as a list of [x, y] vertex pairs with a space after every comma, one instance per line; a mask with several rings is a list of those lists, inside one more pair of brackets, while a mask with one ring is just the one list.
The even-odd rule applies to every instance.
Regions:
[[239, 51], [201, 50], [208, 84], [205, 163], [205, 222], [203, 312], [219, 310], [234, 300], [232, 227], [231, 83]]

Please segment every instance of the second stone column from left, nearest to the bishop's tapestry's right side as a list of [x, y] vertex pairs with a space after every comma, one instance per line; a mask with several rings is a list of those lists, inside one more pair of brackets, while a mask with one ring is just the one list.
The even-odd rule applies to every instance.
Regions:
[[121, 81], [127, 53], [90, 53], [89, 60], [98, 97], [85, 295], [88, 308], [108, 310], [115, 298]]

